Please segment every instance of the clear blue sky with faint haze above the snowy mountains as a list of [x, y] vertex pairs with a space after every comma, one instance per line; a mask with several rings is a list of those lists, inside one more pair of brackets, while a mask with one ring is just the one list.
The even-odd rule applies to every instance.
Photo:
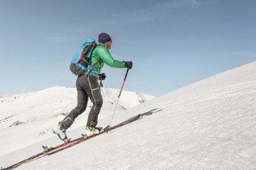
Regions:
[[[102, 32], [132, 61], [124, 90], [161, 96], [256, 60], [256, 1], [0, 1], [0, 93], [75, 87], [70, 61]], [[120, 89], [126, 69], [105, 65]]]

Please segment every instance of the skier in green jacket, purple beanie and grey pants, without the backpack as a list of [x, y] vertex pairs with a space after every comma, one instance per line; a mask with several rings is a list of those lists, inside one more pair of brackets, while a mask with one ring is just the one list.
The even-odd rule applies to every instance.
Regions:
[[[97, 79], [105, 79], [105, 74], [100, 74], [102, 67], [106, 63], [110, 67], [128, 68], [132, 69], [132, 62], [120, 62], [114, 60], [109, 50], [111, 49], [112, 39], [107, 33], [100, 33], [98, 36], [99, 43], [92, 51], [90, 64], [97, 69], [97, 74], [93, 72], [85, 73], [78, 76], [76, 81], [76, 89], [78, 91], [78, 106], [71, 111], [58, 125], [53, 128], [58, 137], [64, 142], [68, 142], [68, 137], [65, 130], [70, 128], [74, 123], [75, 118], [83, 113], [87, 107], [88, 98], [93, 103], [90, 113], [87, 118], [87, 126], [85, 128], [85, 135], [98, 134], [103, 131], [103, 128], [97, 128], [97, 118], [102, 108], [102, 96], [99, 90]], [[95, 64], [96, 63], [96, 64]], [[95, 65], [94, 65], [95, 64]]]

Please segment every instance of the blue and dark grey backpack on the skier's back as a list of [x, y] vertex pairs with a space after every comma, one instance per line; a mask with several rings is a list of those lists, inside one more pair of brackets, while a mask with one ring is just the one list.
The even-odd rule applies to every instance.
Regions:
[[90, 66], [90, 57], [92, 50], [96, 47], [96, 41], [88, 39], [82, 42], [80, 49], [75, 53], [70, 64], [70, 70], [73, 74], [79, 76], [85, 72], [93, 72], [93, 67]]

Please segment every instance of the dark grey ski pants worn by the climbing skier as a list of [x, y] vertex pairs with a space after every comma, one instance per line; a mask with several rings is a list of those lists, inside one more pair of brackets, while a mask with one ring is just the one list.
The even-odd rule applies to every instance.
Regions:
[[74, 123], [75, 118], [83, 113], [87, 107], [88, 97], [93, 103], [87, 119], [87, 126], [95, 128], [97, 118], [102, 108], [103, 100], [100, 94], [97, 78], [92, 75], [80, 75], [76, 81], [76, 89], [78, 91], [78, 106], [71, 111], [67, 117], [60, 123], [67, 130]]

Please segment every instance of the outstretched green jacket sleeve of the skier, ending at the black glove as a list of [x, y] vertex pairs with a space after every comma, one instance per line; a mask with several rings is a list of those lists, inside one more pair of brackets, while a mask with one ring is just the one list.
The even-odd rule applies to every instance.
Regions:
[[101, 60], [105, 62], [110, 67], [115, 68], [124, 68], [124, 62], [120, 62], [118, 60], [114, 60], [110, 52], [107, 50], [106, 47], [100, 47], [97, 50], [98, 55], [100, 56]]

